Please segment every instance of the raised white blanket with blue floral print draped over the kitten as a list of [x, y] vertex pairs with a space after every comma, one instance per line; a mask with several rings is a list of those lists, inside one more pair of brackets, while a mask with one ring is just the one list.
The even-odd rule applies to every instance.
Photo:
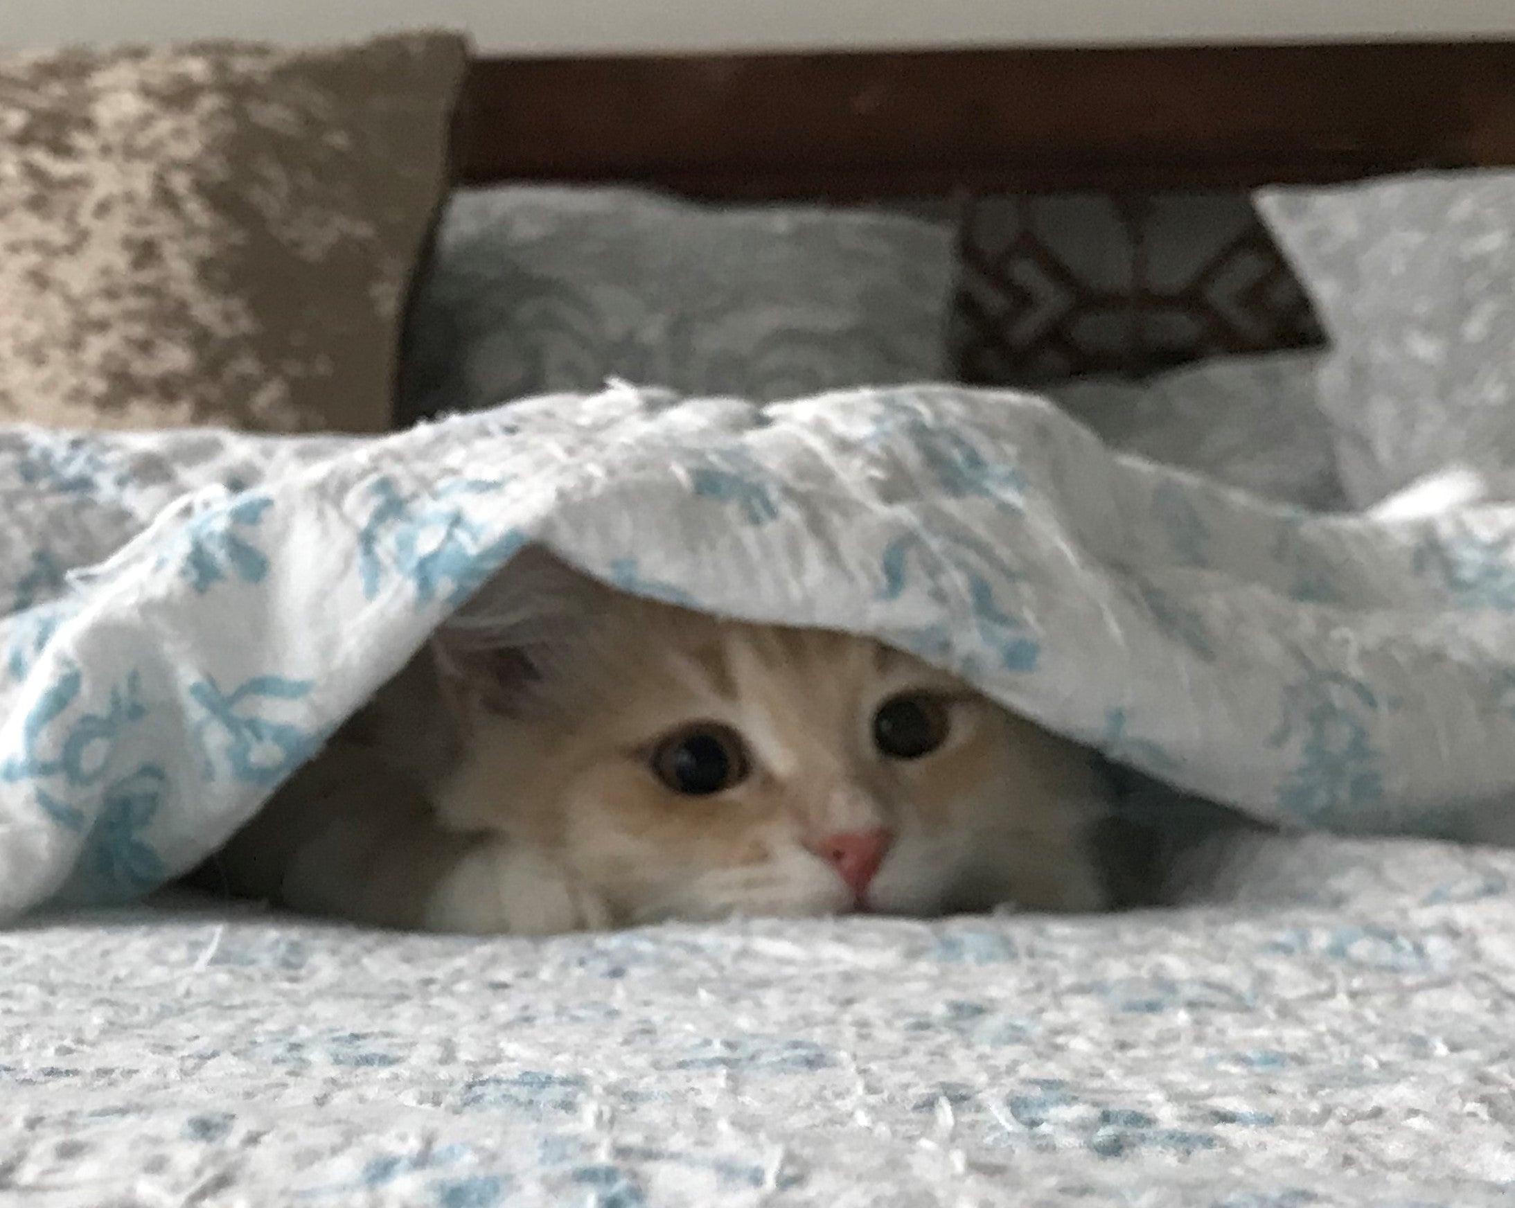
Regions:
[[617, 386], [383, 440], [0, 432], [0, 917], [141, 896], [527, 541], [874, 634], [1259, 817], [1515, 788], [1515, 508], [1386, 524], [1112, 455], [1035, 399]]

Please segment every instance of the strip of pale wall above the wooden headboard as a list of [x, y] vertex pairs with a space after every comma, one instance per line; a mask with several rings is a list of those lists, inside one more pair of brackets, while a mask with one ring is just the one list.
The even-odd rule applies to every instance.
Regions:
[[486, 52], [1515, 36], [1515, 0], [0, 0], [0, 45], [445, 24]]

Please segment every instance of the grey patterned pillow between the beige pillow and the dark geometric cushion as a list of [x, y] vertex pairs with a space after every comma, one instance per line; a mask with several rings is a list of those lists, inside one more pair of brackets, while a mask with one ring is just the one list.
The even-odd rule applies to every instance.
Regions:
[[950, 229], [897, 214], [464, 191], [418, 299], [405, 411], [608, 377], [754, 400], [941, 379], [953, 277]]

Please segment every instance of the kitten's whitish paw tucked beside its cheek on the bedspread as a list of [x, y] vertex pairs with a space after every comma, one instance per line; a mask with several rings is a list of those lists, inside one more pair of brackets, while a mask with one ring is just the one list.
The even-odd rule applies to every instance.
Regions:
[[470, 935], [559, 935], [611, 925], [592, 891], [530, 850], [485, 841], [432, 888], [421, 915], [427, 931]]

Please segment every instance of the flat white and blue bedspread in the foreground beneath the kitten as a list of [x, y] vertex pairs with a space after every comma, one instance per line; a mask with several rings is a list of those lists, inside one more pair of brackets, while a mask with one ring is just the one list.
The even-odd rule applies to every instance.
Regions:
[[0, 1200], [1506, 1205], [1515, 853], [1264, 840], [1104, 919], [0, 935]]

